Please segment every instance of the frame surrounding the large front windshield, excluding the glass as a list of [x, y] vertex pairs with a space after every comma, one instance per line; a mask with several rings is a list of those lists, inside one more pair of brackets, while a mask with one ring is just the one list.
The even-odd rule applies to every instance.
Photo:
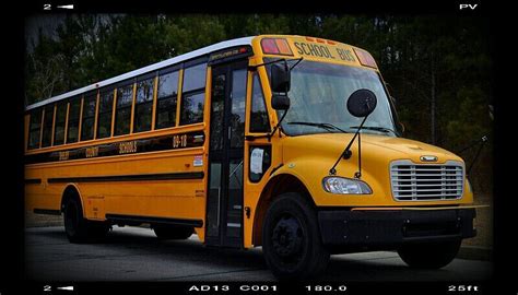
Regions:
[[[266, 64], [264, 67], [264, 70], [267, 72], [267, 78], [268, 78], [268, 85], [270, 86], [271, 83], [270, 83], [270, 73], [271, 73], [271, 67], [272, 64], [276, 63], [275, 61], [279, 61], [279, 62], [282, 62], [286, 60], [290, 63], [293, 64], [293, 62], [297, 61], [298, 59], [292, 59], [292, 58], [271, 58], [271, 57], [266, 57], [263, 58], [263, 62], [264, 63], [269, 63], [269, 64]], [[362, 69], [362, 70], [365, 70], [365, 71], [372, 71], [376, 74], [377, 76], [377, 81], [380, 83], [380, 90], [382, 90], [382, 93], [385, 95], [386, 98], [384, 98], [384, 101], [386, 99], [386, 102], [388, 103], [388, 109], [390, 111], [389, 114], [389, 119], [390, 119], [390, 122], [391, 122], [391, 127], [389, 128], [388, 126], [386, 126], [385, 128], [388, 128], [388, 129], [391, 129], [391, 131], [378, 131], [378, 130], [368, 130], [368, 129], [362, 129], [362, 133], [368, 133], [368, 134], [375, 134], [375, 135], [385, 135], [385, 137], [396, 137], [396, 138], [400, 138], [402, 137], [402, 130], [401, 130], [401, 127], [400, 127], [400, 121], [399, 121], [399, 117], [398, 117], [398, 114], [397, 114], [397, 110], [396, 110], [396, 106], [392, 102], [392, 98], [388, 92], [388, 88], [387, 88], [387, 85], [379, 72], [378, 69], [373, 69], [373, 68], [366, 68], [366, 67], [354, 67], [354, 66], [348, 66], [348, 64], [340, 64], [340, 63], [333, 63], [333, 62], [325, 62], [325, 61], [314, 61], [314, 60], [302, 60], [302, 62], [311, 62], [311, 63], [321, 63], [321, 64], [331, 64], [331, 66], [338, 66], [338, 67], [344, 67], [344, 68], [356, 68], [356, 69]], [[295, 67], [295, 70], [296, 70], [296, 67]], [[380, 97], [378, 97], [378, 99], [380, 99]], [[378, 101], [379, 103], [379, 101]], [[283, 115], [283, 111], [284, 110], [276, 110], [275, 114], [278, 116], [278, 120], [279, 118], [282, 117]], [[290, 113], [290, 109], [286, 110], [287, 113]], [[321, 134], [321, 133], [341, 133], [340, 131], [335, 130], [335, 131], [330, 131], [330, 130], [326, 130], [326, 129], [322, 129], [322, 128], [315, 128], [315, 131], [305, 131], [304, 133], [291, 133], [289, 132], [285, 128], [283, 128], [286, 123], [289, 123], [287, 121], [283, 121], [281, 122], [281, 126], [280, 126], [280, 130], [282, 133], [284, 133], [285, 135], [289, 135], [289, 137], [299, 137], [299, 135], [307, 135], [307, 134]], [[327, 123], [327, 122], [316, 122], [316, 123]], [[366, 125], [366, 127], [368, 127], [368, 125]], [[348, 128], [350, 129], [351, 133], [354, 133], [356, 131], [356, 129], [354, 128]]]

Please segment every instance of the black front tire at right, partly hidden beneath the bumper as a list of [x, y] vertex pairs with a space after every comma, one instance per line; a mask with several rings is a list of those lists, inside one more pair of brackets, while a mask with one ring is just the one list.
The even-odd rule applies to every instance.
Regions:
[[404, 244], [399, 257], [411, 268], [440, 269], [449, 264], [459, 252], [461, 240]]

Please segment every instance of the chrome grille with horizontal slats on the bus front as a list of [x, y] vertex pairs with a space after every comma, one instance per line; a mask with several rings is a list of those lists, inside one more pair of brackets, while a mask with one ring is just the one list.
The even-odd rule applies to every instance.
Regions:
[[395, 161], [390, 165], [392, 196], [398, 201], [460, 199], [463, 179], [462, 164], [454, 161], [440, 165]]

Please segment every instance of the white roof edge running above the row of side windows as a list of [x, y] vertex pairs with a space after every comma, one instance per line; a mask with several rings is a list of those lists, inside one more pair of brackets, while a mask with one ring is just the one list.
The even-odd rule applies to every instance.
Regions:
[[197, 57], [200, 57], [200, 56], [203, 56], [203, 55], [208, 55], [208, 54], [211, 54], [213, 51], [217, 51], [220, 49], [234, 47], [234, 46], [242, 46], [242, 45], [251, 45], [251, 40], [255, 37], [256, 36], [250, 36], [250, 37], [243, 37], [243, 38], [236, 38], [236, 39], [220, 42], [220, 43], [216, 43], [216, 44], [213, 44], [213, 45], [210, 45], [210, 46], [207, 46], [207, 47], [203, 47], [203, 48], [200, 48], [200, 49], [197, 49], [197, 50], [193, 50], [193, 51], [190, 51], [190, 52], [187, 52], [187, 54], [174, 57], [174, 58], [169, 58], [169, 59], [166, 59], [166, 60], [163, 60], [163, 61], [160, 61], [160, 62], [156, 62], [156, 63], [137, 69], [137, 70], [133, 70], [131, 72], [127, 72], [127, 73], [123, 73], [123, 74], [120, 74], [120, 75], [117, 75], [117, 76], [114, 76], [114, 78], [110, 78], [110, 79], [107, 79], [107, 80], [103, 80], [103, 81], [97, 82], [97, 83], [93, 83], [91, 85], [87, 85], [87, 86], [84, 86], [84, 87], [81, 87], [81, 88], [78, 88], [78, 90], [74, 90], [74, 91], [70, 91], [70, 92], [67, 92], [67, 93], [63, 93], [63, 94], [60, 94], [60, 95], [57, 95], [57, 96], [52, 96], [52, 97], [44, 99], [42, 102], [28, 105], [27, 107], [25, 107], [25, 110], [31, 110], [31, 109], [34, 109], [34, 108], [37, 108], [37, 107], [40, 107], [40, 106], [44, 106], [44, 105], [47, 105], [47, 104], [51, 104], [51, 103], [55, 103], [55, 102], [58, 102], [58, 101], [61, 101], [61, 99], [64, 99], [64, 98], [69, 98], [69, 97], [72, 97], [72, 96], [75, 96], [75, 95], [79, 95], [79, 94], [82, 94], [82, 93], [86, 93], [89, 91], [93, 91], [93, 90], [101, 88], [103, 86], [111, 85], [111, 84], [115, 84], [117, 82], [121, 82], [121, 81], [125, 81], [127, 79], [136, 78], [140, 74], [149, 73], [149, 72], [152, 72], [152, 71], [155, 71], [155, 70], [158, 70], [158, 69], [162, 69], [162, 68], [166, 68], [168, 66], [173, 66], [173, 64], [176, 64], [176, 63], [179, 63], [179, 62], [192, 59], [192, 58], [197, 58]]

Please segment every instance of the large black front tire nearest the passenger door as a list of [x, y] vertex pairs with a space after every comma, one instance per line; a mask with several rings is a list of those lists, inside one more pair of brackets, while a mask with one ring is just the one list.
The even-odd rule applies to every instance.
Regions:
[[301, 194], [279, 196], [267, 211], [262, 252], [272, 273], [282, 281], [317, 278], [329, 262], [317, 213]]

